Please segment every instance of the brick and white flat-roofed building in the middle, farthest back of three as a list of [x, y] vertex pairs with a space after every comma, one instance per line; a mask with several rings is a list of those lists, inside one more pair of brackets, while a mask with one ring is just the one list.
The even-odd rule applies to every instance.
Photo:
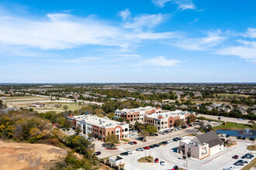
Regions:
[[144, 121], [144, 115], [151, 115], [151, 114], [161, 114], [162, 110], [160, 107], [139, 107], [139, 108], [133, 108], [133, 109], [123, 109], [119, 110], [117, 109], [115, 111], [116, 117], [124, 117], [126, 120], [129, 120], [130, 122], [135, 121]]

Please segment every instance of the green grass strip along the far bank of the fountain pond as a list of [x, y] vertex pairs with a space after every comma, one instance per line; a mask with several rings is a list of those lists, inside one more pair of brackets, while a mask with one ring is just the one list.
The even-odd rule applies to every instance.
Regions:
[[226, 125], [220, 124], [219, 126], [213, 127], [213, 130], [244, 130], [245, 128], [256, 129], [255, 126], [248, 124], [237, 124], [232, 122], [227, 122]]

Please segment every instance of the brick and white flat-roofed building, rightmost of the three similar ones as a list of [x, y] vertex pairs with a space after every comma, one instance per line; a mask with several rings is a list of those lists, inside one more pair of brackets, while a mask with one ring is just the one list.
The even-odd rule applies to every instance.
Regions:
[[157, 127], [158, 131], [164, 131], [169, 128], [173, 128], [175, 125], [175, 121], [178, 119], [182, 119], [186, 123], [190, 114], [195, 113], [190, 113], [189, 111], [175, 110], [164, 112], [161, 114], [144, 114], [144, 124], [153, 125]]

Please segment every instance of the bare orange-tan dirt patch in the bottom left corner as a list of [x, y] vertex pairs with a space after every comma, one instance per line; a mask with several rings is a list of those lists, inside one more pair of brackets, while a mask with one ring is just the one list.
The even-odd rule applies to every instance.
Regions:
[[0, 170], [43, 169], [47, 162], [57, 162], [67, 151], [50, 145], [0, 141]]

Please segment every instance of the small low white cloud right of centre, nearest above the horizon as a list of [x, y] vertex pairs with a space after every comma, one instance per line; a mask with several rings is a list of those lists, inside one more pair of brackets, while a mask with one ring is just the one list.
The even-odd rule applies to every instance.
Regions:
[[178, 66], [180, 61], [176, 59], [165, 59], [164, 56], [157, 56], [151, 59], [141, 61], [137, 66]]

